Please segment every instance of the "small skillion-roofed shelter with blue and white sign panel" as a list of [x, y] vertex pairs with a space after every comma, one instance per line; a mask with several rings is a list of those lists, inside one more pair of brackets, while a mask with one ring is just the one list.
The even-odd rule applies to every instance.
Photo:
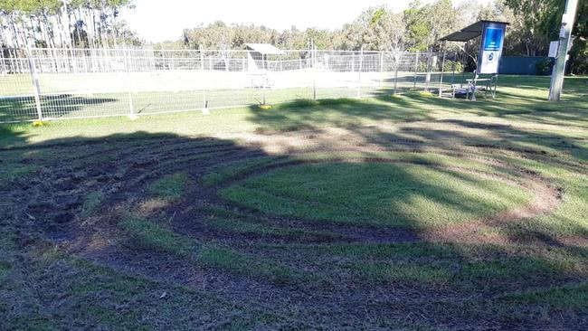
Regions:
[[[489, 90], [492, 97], [496, 96], [498, 65], [502, 56], [507, 25], [509, 25], [507, 22], [482, 20], [440, 39], [441, 42], [467, 43], [480, 36], [482, 38], [473, 79], [467, 80], [468, 86], [466, 88], [462, 84], [459, 89], [452, 86], [452, 96], [463, 94], [468, 99], [476, 99], [476, 91], [478, 90]], [[480, 79], [480, 74], [490, 74], [491, 76]], [[440, 90], [440, 95], [442, 92]]]

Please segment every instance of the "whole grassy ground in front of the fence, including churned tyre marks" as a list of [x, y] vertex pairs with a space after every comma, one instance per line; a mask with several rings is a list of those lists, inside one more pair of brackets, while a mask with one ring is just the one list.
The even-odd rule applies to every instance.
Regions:
[[0, 329], [586, 329], [588, 79], [500, 82], [2, 125]]

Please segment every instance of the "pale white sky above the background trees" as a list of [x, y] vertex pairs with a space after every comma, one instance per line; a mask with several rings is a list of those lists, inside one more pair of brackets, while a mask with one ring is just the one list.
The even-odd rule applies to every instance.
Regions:
[[[430, 2], [422, 0], [422, 3]], [[400, 12], [410, 3], [411, 0], [136, 0], [136, 8], [124, 10], [121, 17], [141, 39], [157, 43], [175, 41], [185, 28], [219, 20], [278, 30], [288, 30], [292, 25], [299, 30], [309, 27], [334, 30], [351, 23], [371, 6], [387, 5]]]

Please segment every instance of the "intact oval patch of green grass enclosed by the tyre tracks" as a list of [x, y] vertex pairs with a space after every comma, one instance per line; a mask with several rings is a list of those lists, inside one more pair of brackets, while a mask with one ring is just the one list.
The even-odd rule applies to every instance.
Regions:
[[525, 189], [423, 165], [299, 165], [220, 191], [235, 203], [315, 221], [422, 229], [489, 217], [530, 200]]

